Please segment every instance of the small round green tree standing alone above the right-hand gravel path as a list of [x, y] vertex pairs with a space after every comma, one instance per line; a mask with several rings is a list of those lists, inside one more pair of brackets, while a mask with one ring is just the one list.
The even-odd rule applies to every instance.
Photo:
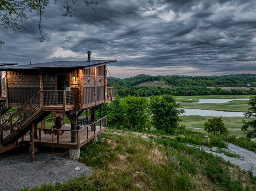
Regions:
[[228, 134], [228, 129], [224, 127], [223, 120], [219, 117], [208, 119], [208, 121], [204, 123], [204, 130], [217, 136], [222, 134]]

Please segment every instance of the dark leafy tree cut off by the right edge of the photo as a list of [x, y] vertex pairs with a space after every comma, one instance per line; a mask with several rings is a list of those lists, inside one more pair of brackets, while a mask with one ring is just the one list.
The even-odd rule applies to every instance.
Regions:
[[[250, 108], [244, 114], [246, 118], [252, 117], [254, 120], [252, 121], [242, 121], [242, 131], [246, 132], [248, 138], [256, 137], [256, 96], [252, 96], [249, 103]], [[252, 130], [249, 130], [252, 129]]]

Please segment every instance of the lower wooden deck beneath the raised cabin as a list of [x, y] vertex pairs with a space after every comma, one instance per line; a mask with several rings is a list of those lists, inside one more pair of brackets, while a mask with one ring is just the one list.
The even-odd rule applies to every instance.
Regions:
[[[37, 130], [37, 139], [34, 139], [34, 144], [38, 146], [52, 146], [52, 142], [54, 147], [62, 147], [62, 148], [80, 148], [84, 146], [86, 143], [90, 142], [93, 138], [98, 136], [101, 132], [106, 130], [106, 127], [96, 126], [95, 131], [92, 131], [92, 127], [84, 127], [80, 130], [72, 131], [70, 130], [71, 125], [65, 125], [61, 129], [57, 131], [63, 132], [62, 135], [55, 133], [55, 135], [50, 135], [44, 132], [44, 129], [35, 128]], [[87, 130], [88, 129], [88, 130]], [[56, 130], [56, 129], [54, 129]], [[88, 132], [88, 136], [87, 136]], [[74, 140], [71, 142], [71, 135]], [[22, 142], [29, 143], [29, 134], [23, 136]]]

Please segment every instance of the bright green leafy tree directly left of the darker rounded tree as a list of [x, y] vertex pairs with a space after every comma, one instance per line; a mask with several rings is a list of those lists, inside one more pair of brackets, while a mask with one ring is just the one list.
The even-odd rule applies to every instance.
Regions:
[[124, 128], [143, 131], [149, 127], [148, 100], [144, 97], [125, 97], [122, 101]]

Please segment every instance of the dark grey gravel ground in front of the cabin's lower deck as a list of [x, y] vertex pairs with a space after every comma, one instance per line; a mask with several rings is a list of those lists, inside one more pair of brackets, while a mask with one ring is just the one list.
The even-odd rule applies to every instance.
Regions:
[[55, 154], [51, 160], [50, 152], [35, 154], [36, 161], [29, 161], [29, 154], [2, 154], [0, 161], [0, 191], [17, 191], [24, 187], [63, 182], [82, 174], [88, 176], [91, 170], [79, 163], [80, 171], [75, 171], [78, 161], [64, 153]]

